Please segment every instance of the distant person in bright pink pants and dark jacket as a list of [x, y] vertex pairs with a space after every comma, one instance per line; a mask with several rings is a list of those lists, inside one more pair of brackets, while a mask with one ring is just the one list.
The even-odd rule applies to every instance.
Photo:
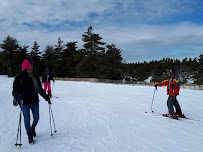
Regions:
[[42, 83], [44, 85], [44, 92], [45, 93], [46, 93], [46, 90], [48, 87], [48, 95], [50, 97], [52, 96], [52, 94], [51, 94], [51, 82], [50, 82], [51, 80], [54, 82], [54, 78], [51, 74], [51, 71], [50, 71], [50, 69], [46, 69], [44, 74], [42, 75]]

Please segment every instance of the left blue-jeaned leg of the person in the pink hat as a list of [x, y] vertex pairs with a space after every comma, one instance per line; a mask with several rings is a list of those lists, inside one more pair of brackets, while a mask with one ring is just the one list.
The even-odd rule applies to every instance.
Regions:
[[28, 132], [30, 132], [30, 105], [22, 105], [20, 106], [23, 116], [24, 116], [24, 124], [25, 124], [25, 129]]

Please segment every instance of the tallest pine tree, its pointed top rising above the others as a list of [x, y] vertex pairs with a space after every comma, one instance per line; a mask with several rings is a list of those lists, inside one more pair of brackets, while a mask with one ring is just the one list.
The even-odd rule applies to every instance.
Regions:
[[[105, 48], [102, 46], [105, 43], [101, 42], [102, 37], [93, 31], [94, 29], [90, 25], [87, 32], [82, 35], [85, 44], [84, 49], [81, 49], [77, 55], [77, 57], [83, 57], [76, 66], [77, 77], [99, 77], [100, 62], [105, 54]], [[84, 53], [85, 56], [83, 56]]]

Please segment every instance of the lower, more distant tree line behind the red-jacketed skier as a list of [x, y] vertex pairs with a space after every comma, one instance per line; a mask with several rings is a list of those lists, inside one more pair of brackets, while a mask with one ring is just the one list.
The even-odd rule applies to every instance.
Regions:
[[161, 82], [168, 78], [166, 70], [174, 68], [183, 84], [203, 84], [203, 54], [198, 58], [179, 59], [163, 58], [142, 63], [124, 64], [124, 75], [127, 80], [144, 81], [151, 76], [151, 82]]

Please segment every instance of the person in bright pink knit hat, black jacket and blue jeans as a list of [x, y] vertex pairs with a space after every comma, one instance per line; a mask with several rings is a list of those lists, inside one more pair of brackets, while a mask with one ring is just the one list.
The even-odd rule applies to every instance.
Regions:
[[[39, 121], [39, 96], [40, 94], [49, 104], [49, 96], [43, 91], [40, 79], [33, 71], [29, 60], [22, 63], [22, 71], [15, 77], [13, 92], [15, 106], [18, 104], [23, 112], [25, 129], [28, 134], [29, 143], [34, 143], [33, 136], [36, 136], [35, 127]], [[33, 114], [33, 123], [30, 126], [30, 110]]]

